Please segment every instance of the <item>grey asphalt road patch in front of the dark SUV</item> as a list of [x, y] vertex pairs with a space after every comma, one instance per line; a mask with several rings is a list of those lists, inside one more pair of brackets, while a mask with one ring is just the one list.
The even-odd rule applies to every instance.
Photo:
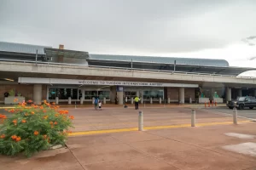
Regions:
[[[217, 108], [207, 108], [207, 110], [211, 110], [211, 111], [217, 111], [220, 113], [226, 113], [226, 114], [233, 114], [233, 110], [230, 110], [228, 107], [226, 106], [220, 106]], [[250, 109], [245, 109], [245, 110], [237, 110], [237, 115], [238, 116], [244, 116], [247, 118], [251, 118], [251, 119], [256, 119], [256, 109], [250, 110]]]

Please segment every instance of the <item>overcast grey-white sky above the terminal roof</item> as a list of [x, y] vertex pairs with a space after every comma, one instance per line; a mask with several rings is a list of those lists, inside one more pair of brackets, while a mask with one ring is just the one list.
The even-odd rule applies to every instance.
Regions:
[[256, 0], [0, 0], [0, 41], [256, 67], [255, 20]]

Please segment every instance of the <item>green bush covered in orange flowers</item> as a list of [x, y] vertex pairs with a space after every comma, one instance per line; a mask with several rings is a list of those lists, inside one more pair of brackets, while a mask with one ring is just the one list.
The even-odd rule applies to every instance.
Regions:
[[20, 152], [32, 156], [51, 145], [63, 145], [70, 133], [68, 128], [73, 127], [73, 116], [68, 116], [68, 111], [59, 111], [58, 106], [46, 101], [44, 105], [22, 103], [8, 111], [13, 113], [8, 119], [0, 114], [0, 153], [7, 156]]

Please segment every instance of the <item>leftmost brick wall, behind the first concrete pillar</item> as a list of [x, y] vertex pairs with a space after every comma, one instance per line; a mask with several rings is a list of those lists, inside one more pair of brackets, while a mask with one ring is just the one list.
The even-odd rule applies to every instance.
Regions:
[[[4, 101], [4, 93], [9, 92], [11, 89], [14, 89], [16, 93], [22, 94], [25, 99], [33, 99], [33, 85], [25, 85], [25, 84], [2, 84], [0, 85], [0, 103]], [[46, 99], [47, 87], [43, 85], [42, 87], [42, 99]]]

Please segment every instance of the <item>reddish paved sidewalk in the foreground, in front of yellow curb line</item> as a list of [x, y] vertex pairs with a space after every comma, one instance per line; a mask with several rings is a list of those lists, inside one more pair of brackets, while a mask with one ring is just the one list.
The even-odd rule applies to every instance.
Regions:
[[0, 169], [253, 170], [255, 148], [232, 145], [256, 144], [255, 128], [256, 123], [249, 122], [69, 137], [67, 148], [43, 151], [30, 159], [0, 156]]

